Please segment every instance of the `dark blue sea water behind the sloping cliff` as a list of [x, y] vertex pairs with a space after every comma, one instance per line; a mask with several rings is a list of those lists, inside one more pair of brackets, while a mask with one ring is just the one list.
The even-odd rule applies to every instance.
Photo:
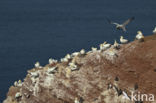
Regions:
[[[133, 40], [156, 26], [156, 0], [0, 0], [0, 102], [9, 86], [26, 76], [36, 61], [48, 63], [67, 53], [89, 50], [124, 35]], [[106, 18], [123, 22], [135, 16], [127, 33]]]

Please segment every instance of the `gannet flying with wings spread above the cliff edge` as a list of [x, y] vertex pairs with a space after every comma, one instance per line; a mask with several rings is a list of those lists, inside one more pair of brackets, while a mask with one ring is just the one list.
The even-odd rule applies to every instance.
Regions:
[[114, 25], [116, 25], [116, 29], [117, 30], [123, 30], [123, 31], [125, 31], [126, 32], [126, 25], [128, 24], [128, 23], [130, 23], [132, 20], [134, 20], [134, 17], [131, 17], [131, 18], [129, 18], [128, 20], [126, 20], [124, 23], [122, 23], [122, 24], [119, 24], [119, 23], [115, 23], [115, 22], [113, 22], [113, 21], [111, 21], [111, 20], [109, 20], [109, 19], [107, 19], [108, 20], [108, 22], [110, 23], [110, 24], [114, 24]]

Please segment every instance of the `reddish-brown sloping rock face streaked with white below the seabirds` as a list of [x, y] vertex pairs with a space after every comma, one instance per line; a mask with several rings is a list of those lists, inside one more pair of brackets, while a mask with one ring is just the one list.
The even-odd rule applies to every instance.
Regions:
[[156, 103], [131, 100], [132, 92], [156, 95], [156, 38], [146, 38], [33, 68], [3, 103]]

